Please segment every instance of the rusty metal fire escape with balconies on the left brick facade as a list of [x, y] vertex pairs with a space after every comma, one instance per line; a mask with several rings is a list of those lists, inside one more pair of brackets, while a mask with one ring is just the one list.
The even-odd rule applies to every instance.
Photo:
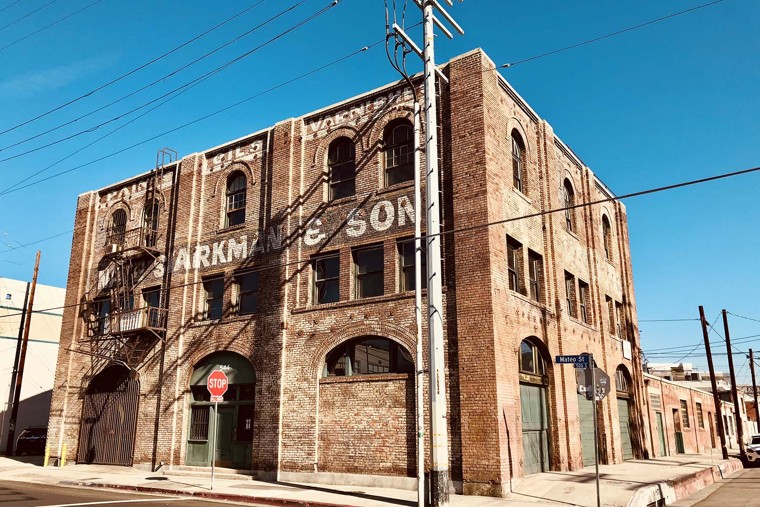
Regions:
[[[90, 277], [85, 295], [83, 318], [87, 337], [71, 350], [119, 363], [132, 371], [144, 362], [150, 350], [166, 338], [166, 294], [164, 277], [157, 290], [141, 293], [135, 289], [144, 274], [155, 269], [165, 252], [166, 238], [160, 234], [160, 187], [166, 164], [176, 162], [176, 151], [163, 148], [156, 157], [156, 169], [146, 182], [140, 226], [127, 229], [126, 214], [112, 216], [103, 245], [97, 277]], [[100, 290], [102, 277], [108, 278]], [[135, 282], [137, 278], [138, 282]], [[107, 297], [103, 293], [107, 292]]]

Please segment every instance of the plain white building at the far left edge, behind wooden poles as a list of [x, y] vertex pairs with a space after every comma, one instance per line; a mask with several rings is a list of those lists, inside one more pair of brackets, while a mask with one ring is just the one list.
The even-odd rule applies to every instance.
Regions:
[[[18, 341], [23, 332], [21, 312], [26, 306], [30, 283], [0, 277], [0, 452], [5, 453], [11, 416]], [[63, 306], [66, 290], [37, 284], [34, 310]], [[16, 433], [27, 426], [44, 425], [50, 414], [55, 359], [61, 335], [62, 309], [34, 313], [29, 331], [24, 382], [16, 420]]]

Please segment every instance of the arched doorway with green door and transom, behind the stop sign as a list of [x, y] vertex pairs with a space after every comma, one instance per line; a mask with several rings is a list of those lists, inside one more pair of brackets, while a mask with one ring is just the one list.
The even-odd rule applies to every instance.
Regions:
[[[214, 414], [214, 404], [206, 387], [208, 375], [221, 370], [227, 375], [228, 388]], [[254, 432], [255, 372], [251, 363], [238, 353], [215, 352], [195, 365], [190, 378], [190, 426], [185, 464], [250, 470]], [[216, 448], [214, 418], [216, 417]]]

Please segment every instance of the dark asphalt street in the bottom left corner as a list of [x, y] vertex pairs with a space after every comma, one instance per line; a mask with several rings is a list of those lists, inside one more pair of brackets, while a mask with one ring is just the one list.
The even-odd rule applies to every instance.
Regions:
[[[49, 486], [0, 480], [0, 505], [8, 507], [209, 507], [211, 505], [242, 505], [236, 502], [192, 500], [170, 496], [118, 493], [108, 490]], [[251, 504], [245, 504], [251, 505]]]

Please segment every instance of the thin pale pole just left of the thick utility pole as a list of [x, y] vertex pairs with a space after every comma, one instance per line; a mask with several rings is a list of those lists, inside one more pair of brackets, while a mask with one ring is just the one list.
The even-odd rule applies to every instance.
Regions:
[[414, 319], [417, 328], [417, 505], [425, 507], [425, 395], [423, 368], [422, 192], [420, 190], [420, 103], [414, 103]]

